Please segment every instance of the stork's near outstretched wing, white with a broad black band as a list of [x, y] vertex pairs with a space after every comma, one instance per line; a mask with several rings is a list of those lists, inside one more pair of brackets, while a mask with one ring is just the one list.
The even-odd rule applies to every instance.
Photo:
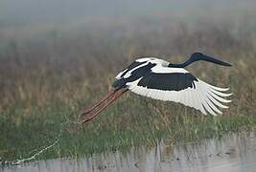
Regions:
[[228, 108], [224, 97], [232, 94], [222, 93], [228, 88], [212, 86], [181, 68], [168, 68], [156, 65], [151, 73], [133, 82], [128, 82], [128, 89], [141, 96], [169, 100], [198, 109], [202, 114], [222, 114], [218, 109]]

